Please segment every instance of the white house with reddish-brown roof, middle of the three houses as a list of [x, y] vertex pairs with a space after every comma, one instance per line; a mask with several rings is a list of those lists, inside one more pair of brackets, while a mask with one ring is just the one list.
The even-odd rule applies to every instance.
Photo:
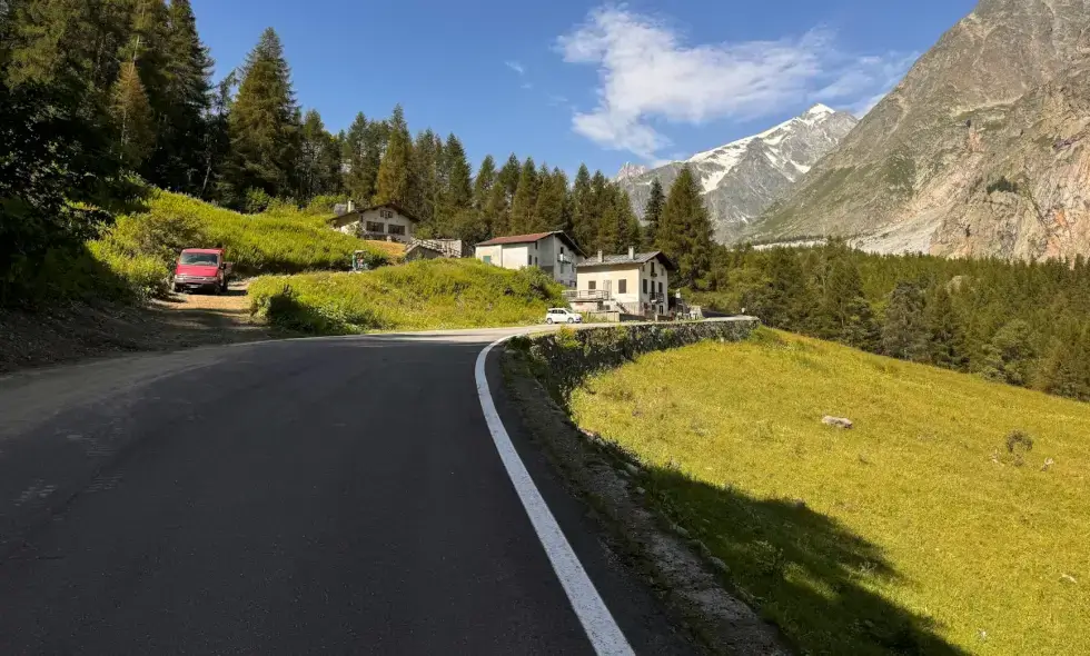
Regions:
[[562, 231], [496, 237], [476, 247], [476, 258], [505, 269], [537, 267], [565, 287], [575, 287], [575, 262], [583, 251]]

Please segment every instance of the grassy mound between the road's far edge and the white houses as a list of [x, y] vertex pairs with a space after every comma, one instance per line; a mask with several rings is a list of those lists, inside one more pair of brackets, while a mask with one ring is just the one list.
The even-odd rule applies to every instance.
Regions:
[[249, 294], [254, 314], [316, 335], [536, 324], [563, 304], [561, 287], [539, 269], [447, 259], [363, 274], [264, 277]]

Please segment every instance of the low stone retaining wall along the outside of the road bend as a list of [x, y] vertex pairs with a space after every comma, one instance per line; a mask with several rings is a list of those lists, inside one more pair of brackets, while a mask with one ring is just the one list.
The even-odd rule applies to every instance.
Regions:
[[528, 352], [535, 376], [557, 400], [566, 402], [587, 377], [631, 362], [642, 354], [710, 339], [741, 341], [757, 326], [757, 319], [747, 317], [692, 324], [622, 324], [517, 338], [511, 346]]

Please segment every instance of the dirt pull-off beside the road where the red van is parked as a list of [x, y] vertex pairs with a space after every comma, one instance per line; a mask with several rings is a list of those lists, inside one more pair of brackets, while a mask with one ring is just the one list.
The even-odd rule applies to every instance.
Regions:
[[145, 306], [70, 305], [0, 311], [0, 374], [138, 351], [171, 351], [278, 336], [255, 321], [248, 280], [222, 295], [172, 294]]

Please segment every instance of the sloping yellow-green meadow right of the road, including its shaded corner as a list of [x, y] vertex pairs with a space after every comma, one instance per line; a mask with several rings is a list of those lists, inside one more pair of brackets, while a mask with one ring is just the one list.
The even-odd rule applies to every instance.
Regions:
[[762, 330], [572, 407], [802, 650], [1090, 649], [1090, 406]]

